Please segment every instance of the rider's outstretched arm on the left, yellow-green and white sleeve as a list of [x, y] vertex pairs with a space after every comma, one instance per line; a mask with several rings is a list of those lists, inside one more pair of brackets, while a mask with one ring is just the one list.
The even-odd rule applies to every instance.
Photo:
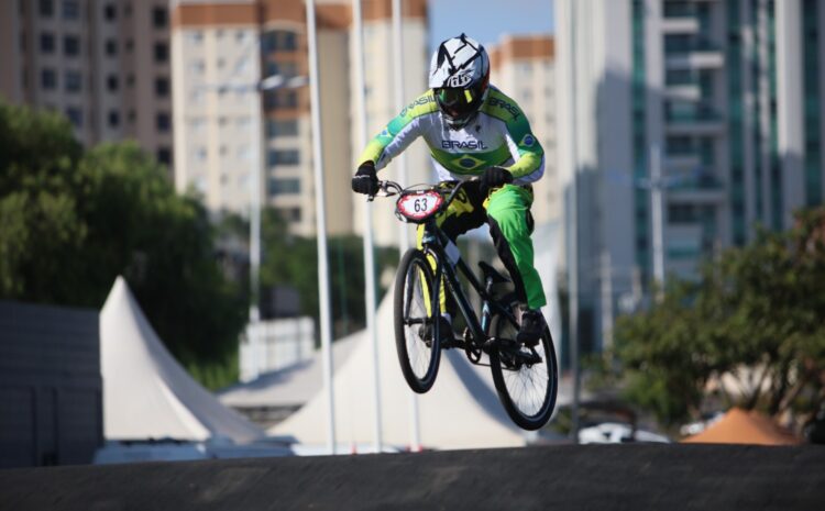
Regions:
[[369, 144], [359, 163], [372, 160], [376, 169], [382, 169], [424, 133], [430, 116], [438, 112], [436, 98], [428, 90], [407, 105], [402, 113], [389, 121], [389, 124]]

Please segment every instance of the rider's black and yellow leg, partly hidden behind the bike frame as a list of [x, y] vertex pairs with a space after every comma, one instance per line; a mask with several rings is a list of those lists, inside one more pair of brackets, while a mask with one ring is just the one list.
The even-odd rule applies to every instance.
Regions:
[[[459, 195], [450, 203], [439, 218], [436, 220], [438, 226], [447, 234], [447, 236], [455, 243], [455, 240], [465, 232], [481, 227], [484, 222], [487, 221], [486, 213], [483, 208], [483, 199], [479, 186], [475, 182], [468, 182], [462, 187]], [[421, 238], [424, 237], [424, 224], [418, 225], [416, 231], [416, 246], [421, 248]], [[436, 269], [436, 260], [432, 257], [428, 257], [430, 266]], [[446, 280], [441, 280], [441, 292], [439, 301], [441, 302], [441, 312], [448, 313], [450, 316], [455, 315], [455, 300], [452, 296], [448, 299], [448, 293], [444, 292]]]

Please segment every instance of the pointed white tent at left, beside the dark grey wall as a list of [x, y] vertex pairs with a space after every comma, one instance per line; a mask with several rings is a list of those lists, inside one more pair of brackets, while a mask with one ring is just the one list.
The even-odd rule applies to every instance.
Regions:
[[263, 436], [180, 367], [122, 277], [100, 313], [100, 358], [107, 440], [228, 437], [242, 443]]

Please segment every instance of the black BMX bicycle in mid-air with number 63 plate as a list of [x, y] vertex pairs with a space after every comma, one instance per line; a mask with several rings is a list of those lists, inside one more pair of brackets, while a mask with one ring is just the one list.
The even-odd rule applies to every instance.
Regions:
[[[424, 224], [421, 248], [407, 251], [396, 274], [394, 319], [398, 362], [407, 385], [424, 393], [436, 382], [441, 349], [463, 349], [472, 364], [490, 366], [498, 399], [510, 419], [525, 430], [538, 430], [556, 407], [559, 367], [553, 340], [546, 327], [535, 346], [517, 342], [520, 310], [515, 293], [494, 293], [497, 284], [509, 279], [481, 262], [482, 285], [455, 244], [438, 226], [437, 216], [447, 210], [464, 182], [405, 189], [395, 181], [378, 181], [381, 195], [367, 199], [398, 196], [395, 208], [398, 220]], [[459, 274], [481, 297], [481, 314], [470, 304]], [[447, 335], [440, 332], [442, 292], [451, 293], [464, 318], [468, 326], [462, 338], [455, 338], [453, 332]]]

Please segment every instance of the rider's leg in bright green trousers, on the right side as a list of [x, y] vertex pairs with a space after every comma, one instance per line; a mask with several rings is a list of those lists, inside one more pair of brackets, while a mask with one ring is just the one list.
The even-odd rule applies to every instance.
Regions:
[[547, 303], [541, 278], [532, 265], [532, 192], [505, 185], [490, 195], [484, 205], [487, 210], [490, 233], [516, 287], [518, 300], [530, 310]]

